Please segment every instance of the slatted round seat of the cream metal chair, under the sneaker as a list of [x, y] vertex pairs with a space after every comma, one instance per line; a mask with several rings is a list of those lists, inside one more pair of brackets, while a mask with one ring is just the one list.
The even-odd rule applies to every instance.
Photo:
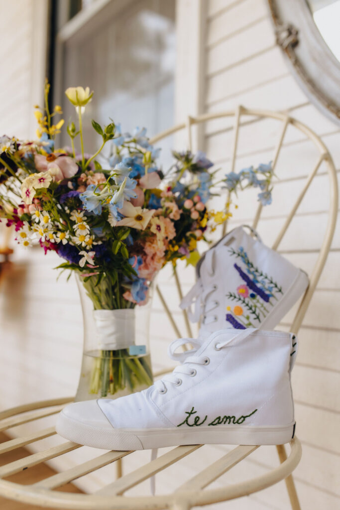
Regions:
[[[0, 431], [11, 429], [23, 423], [41, 420], [46, 416], [56, 416], [63, 406], [72, 401], [72, 398], [50, 400], [27, 404], [15, 407], [11, 410], [0, 413]], [[35, 427], [37, 429], [37, 427]], [[1, 455], [16, 448], [33, 444], [36, 441], [56, 434], [54, 427], [42, 428], [24, 437], [17, 437], [0, 444]], [[236, 446], [227, 454], [221, 450], [221, 456], [217, 461], [205, 466], [171, 494], [156, 496], [124, 496], [124, 493], [142, 481], [152, 477], [156, 473], [166, 470], [181, 458], [191, 455], [198, 448], [204, 445], [185, 445], [172, 448], [161, 454], [151, 462], [141, 464], [135, 471], [124, 476], [117, 477], [115, 481], [108, 484], [94, 494], [72, 494], [69, 492], [54, 491], [66, 483], [75, 480], [85, 474], [93, 473], [97, 469], [111, 463], [118, 464], [117, 473], [120, 472], [120, 462], [126, 455], [133, 455], [135, 452], [109, 451], [100, 453], [90, 461], [73, 466], [66, 471], [57, 473], [31, 485], [13, 483], [4, 478], [19, 473], [20, 471], [36, 464], [59, 457], [69, 451], [82, 448], [81, 445], [72, 442], [64, 442], [48, 448], [47, 450], [33, 453], [17, 461], [5, 464], [0, 467], [0, 496], [40, 506], [54, 508], [74, 509], [156, 509], [172, 508], [185, 510], [196, 505], [208, 505], [220, 501], [238, 498], [260, 491], [283, 480], [289, 476], [298, 465], [301, 458], [301, 445], [297, 438], [291, 441], [291, 452], [288, 458], [276, 468], [269, 470], [261, 476], [251, 478], [240, 483], [228, 484], [226, 487], [211, 490], [208, 486], [221, 475], [230, 470], [233, 466], [243, 461], [258, 446]], [[283, 447], [282, 447], [283, 448]]]

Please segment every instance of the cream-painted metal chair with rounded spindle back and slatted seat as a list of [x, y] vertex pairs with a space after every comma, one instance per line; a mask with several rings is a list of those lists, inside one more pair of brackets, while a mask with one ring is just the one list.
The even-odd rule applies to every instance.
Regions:
[[[233, 136], [233, 147], [230, 158], [230, 170], [233, 170], [237, 160], [237, 147], [239, 140], [239, 133], [242, 126], [242, 119], [247, 116], [247, 119], [258, 119], [258, 118], [269, 118], [276, 119], [281, 127], [277, 140], [277, 146], [273, 156], [273, 167], [275, 169], [278, 157], [284, 147], [284, 139], [287, 131], [287, 127], [292, 126], [294, 129], [303, 133], [312, 143], [315, 145], [319, 152], [319, 157], [315, 162], [309, 175], [306, 176], [306, 181], [301, 189], [296, 203], [292, 207], [289, 214], [287, 214], [284, 223], [279, 231], [273, 248], [277, 249], [289, 228], [291, 221], [297, 209], [302, 202], [305, 193], [307, 192], [313, 178], [316, 176], [319, 167], [324, 162], [327, 169], [327, 175], [330, 184], [330, 201], [329, 201], [329, 213], [328, 213], [328, 224], [325, 229], [324, 238], [320, 247], [317, 262], [309, 275], [310, 284], [305, 292], [305, 295], [299, 305], [298, 311], [292, 321], [291, 331], [297, 333], [304, 315], [306, 313], [310, 299], [317, 286], [320, 274], [325, 265], [327, 254], [332, 241], [336, 214], [337, 214], [337, 181], [336, 172], [332, 158], [329, 151], [323, 141], [313, 133], [307, 126], [299, 122], [298, 120], [290, 117], [285, 113], [263, 111], [263, 110], [250, 110], [244, 107], [238, 107], [236, 112], [220, 112], [216, 114], [201, 115], [197, 118], [189, 117], [188, 122], [174, 126], [172, 129], [161, 133], [154, 137], [151, 142], [156, 143], [162, 138], [172, 135], [173, 133], [180, 130], [188, 130], [189, 148], [191, 148], [191, 133], [192, 126], [213, 119], [223, 119], [228, 117], [234, 117], [234, 136]], [[253, 220], [253, 226], [256, 227], [261, 215], [261, 206], [258, 206], [255, 217]], [[223, 226], [223, 231], [226, 231], [226, 224]], [[175, 271], [174, 273], [175, 284], [178, 290], [178, 296], [181, 298], [182, 290], [179, 281], [179, 277]], [[160, 288], [156, 289], [164, 309], [169, 317], [169, 320], [173, 326], [174, 333], [176, 336], [181, 336], [179, 328], [176, 324], [174, 317], [172, 316], [170, 309], [166, 303], [166, 299]], [[191, 327], [188, 318], [185, 314], [185, 326], [187, 334], [192, 336]], [[160, 375], [160, 374], [156, 374]], [[35, 404], [28, 404], [20, 406], [12, 410], [0, 413], [0, 431], [10, 429], [11, 427], [26, 423], [32, 420], [38, 420], [44, 416], [56, 414], [66, 402], [71, 399], [59, 399], [54, 401], [44, 401]], [[18, 448], [20, 446], [29, 445], [38, 441], [39, 439], [46, 438], [55, 433], [54, 428], [48, 428], [39, 432], [33, 433], [29, 436], [16, 438], [0, 445], [0, 455], [6, 451]], [[32, 486], [22, 485], [13, 483], [4, 478], [21, 471], [22, 469], [28, 468], [40, 462], [48, 461], [51, 458], [62, 455], [66, 452], [79, 448], [80, 445], [75, 443], [66, 442], [61, 445], [49, 448], [45, 451], [34, 453], [25, 457], [19, 461], [15, 461], [11, 464], [0, 467], [0, 495], [14, 499], [21, 502], [27, 502], [40, 506], [48, 506], [54, 508], [73, 508], [73, 509], [93, 509], [93, 510], [147, 510], [147, 509], [161, 509], [170, 508], [171, 510], [187, 510], [197, 505], [209, 505], [219, 501], [226, 501], [233, 498], [239, 498], [245, 495], [252, 494], [256, 491], [265, 489], [272, 486], [280, 480], [285, 479], [287, 491], [289, 493], [290, 501], [293, 510], [300, 508], [299, 501], [297, 498], [294, 481], [292, 478], [292, 472], [298, 465], [301, 458], [301, 445], [297, 438], [291, 441], [290, 447], [291, 452], [289, 457], [286, 456], [285, 447], [283, 445], [277, 446], [278, 456], [280, 464], [252, 479], [245, 481], [228, 484], [226, 487], [218, 489], [205, 489], [213, 481], [218, 479], [222, 474], [226, 473], [233, 466], [240, 463], [244, 458], [250, 455], [258, 447], [256, 446], [237, 446], [232, 449], [229, 453], [221, 455], [221, 457], [213, 462], [211, 465], [205, 467], [203, 470], [198, 472], [193, 478], [180, 484], [175, 492], [171, 494], [156, 495], [156, 496], [140, 496], [130, 497], [124, 496], [124, 492], [128, 489], [138, 486], [143, 480], [151, 477], [152, 475], [166, 470], [169, 466], [180, 461], [183, 457], [192, 454], [195, 450], [201, 447], [201, 445], [195, 446], [178, 446], [159, 458], [152, 460], [151, 462], [141, 465], [137, 470], [130, 472], [124, 476], [121, 472], [121, 460], [124, 456], [133, 454], [133, 452], [108, 452], [99, 454], [93, 460], [86, 463], [72, 467], [64, 472], [58, 473], [54, 476], [46, 478], [40, 482], [35, 483]], [[204, 446], [202, 447], [204, 449]], [[259, 447], [260, 448], [260, 447]], [[203, 450], [204, 451], [204, 450]], [[0, 456], [1, 460], [1, 456]], [[116, 462], [117, 465], [117, 479], [101, 489], [95, 494], [70, 494], [62, 491], [54, 491], [57, 487], [62, 487], [65, 483], [75, 480], [87, 473], [94, 472], [102, 466]]]

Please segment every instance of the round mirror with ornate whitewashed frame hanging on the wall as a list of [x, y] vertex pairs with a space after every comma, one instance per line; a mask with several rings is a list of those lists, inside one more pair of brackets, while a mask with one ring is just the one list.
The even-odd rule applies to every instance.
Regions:
[[269, 0], [276, 40], [292, 73], [340, 125], [340, 0]]

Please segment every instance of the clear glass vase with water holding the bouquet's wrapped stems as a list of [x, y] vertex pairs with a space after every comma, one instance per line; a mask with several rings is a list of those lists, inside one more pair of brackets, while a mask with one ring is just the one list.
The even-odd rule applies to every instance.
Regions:
[[83, 311], [84, 344], [75, 401], [118, 398], [148, 388], [153, 384], [150, 297], [142, 306], [124, 301], [130, 308], [101, 309], [93, 301], [88, 286], [80, 277], [76, 279]]

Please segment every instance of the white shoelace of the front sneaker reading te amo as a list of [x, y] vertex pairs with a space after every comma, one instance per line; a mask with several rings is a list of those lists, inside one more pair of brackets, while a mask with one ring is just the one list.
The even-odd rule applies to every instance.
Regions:
[[[236, 340], [240, 341], [246, 338], [248, 335], [251, 335], [257, 328], [248, 328], [241, 331], [241, 333], [237, 333], [229, 340], [225, 342], [216, 342], [214, 345], [215, 350], [219, 351], [230, 344], [230, 342]], [[193, 348], [191, 350], [176, 353], [175, 351], [178, 347], [181, 347], [184, 344], [191, 344]], [[174, 386], [180, 386], [182, 384], [182, 379], [179, 375], [188, 375], [190, 377], [195, 377], [197, 374], [197, 370], [192, 365], [208, 365], [210, 363], [210, 358], [206, 354], [195, 355], [198, 349], [201, 347], [201, 343], [193, 338], [178, 338], [171, 342], [168, 348], [169, 358], [175, 361], [180, 361], [182, 364], [176, 367], [171, 374], [166, 375], [163, 379], [156, 381], [154, 386], [158, 388], [159, 393], [165, 394], [168, 391], [167, 383], [170, 383]]]

